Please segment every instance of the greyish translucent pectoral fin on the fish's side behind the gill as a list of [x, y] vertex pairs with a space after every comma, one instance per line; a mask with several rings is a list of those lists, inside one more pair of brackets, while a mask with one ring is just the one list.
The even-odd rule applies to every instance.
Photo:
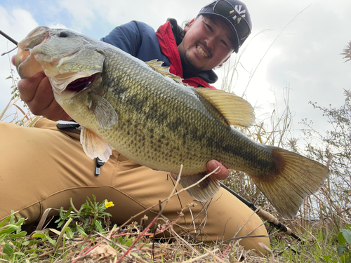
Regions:
[[118, 115], [110, 102], [103, 97], [90, 93], [91, 103], [88, 108], [93, 112], [96, 123], [104, 130], [110, 129], [118, 123]]

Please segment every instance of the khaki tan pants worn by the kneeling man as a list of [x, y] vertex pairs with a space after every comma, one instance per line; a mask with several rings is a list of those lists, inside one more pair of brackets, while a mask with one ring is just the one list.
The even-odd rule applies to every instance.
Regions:
[[[0, 201], [0, 221], [11, 210], [18, 210], [21, 217], [28, 217], [27, 223], [35, 222], [46, 208], [67, 209], [70, 197], [79, 207], [86, 196], [94, 194], [100, 202], [104, 199], [114, 202], [115, 206], [107, 212], [112, 214], [113, 222], [123, 224], [171, 193], [173, 182], [167, 180], [167, 173], [140, 166], [117, 151], [102, 166], [101, 174], [95, 176], [95, 161], [82, 150], [79, 134], [62, 133], [55, 124], [47, 119], [41, 119], [37, 128], [0, 123], [1, 137], [8, 138], [0, 142], [0, 191], [4, 196]], [[180, 199], [171, 198], [164, 210], [170, 220], [176, 220], [181, 208], [194, 202], [185, 192], [179, 196]], [[177, 222], [175, 229], [180, 234], [189, 229], [195, 235], [194, 217], [199, 240], [267, 235], [265, 227], [259, 227], [262, 222], [258, 216], [251, 217], [251, 209], [225, 190], [213, 198], [206, 212], [201, 203], [194, 203], [197, 205], [191, 208], [192, 214], [187, 209], [185, 217]], [[149, 221], [156, 213], [157, 209], [146, 213]], [[135, 220], [140, 222], [140, 217]], [[253, 229], [256, 230], [250, 233]], [[258, 242], [269, 245], [268, 238], [246, 238], [241, 245], [247, 250], [263, 251]]]

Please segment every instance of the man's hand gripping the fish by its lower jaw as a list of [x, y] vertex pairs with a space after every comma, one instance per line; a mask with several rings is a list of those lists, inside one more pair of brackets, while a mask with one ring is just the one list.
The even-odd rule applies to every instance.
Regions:
[[[15, 56], [12, 57], [12, 63], [15, 65]], [[43, 72], [18, 81], [18, 91], [20, 92], [21, 100], [28, 105], [33, 114], [41, 115], [54, 121], [72, 120], [54, 99], [51, 83]]]

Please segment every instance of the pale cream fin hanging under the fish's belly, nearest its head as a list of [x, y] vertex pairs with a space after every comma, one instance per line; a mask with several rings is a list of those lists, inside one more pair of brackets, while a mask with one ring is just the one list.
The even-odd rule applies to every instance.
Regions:
[[84, 127], [81, 127], [81, 145], [86, 155], [91, 159], [99, 157], [102, 161], [107, 161], [112, 154], [112, 147], [110, 144]]

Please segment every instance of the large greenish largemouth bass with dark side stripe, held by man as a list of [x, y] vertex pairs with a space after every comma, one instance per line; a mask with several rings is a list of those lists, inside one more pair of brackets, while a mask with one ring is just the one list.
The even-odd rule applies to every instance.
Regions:
[[[116, 149], [154, 170], [178, 174], [183, 165], [183, 187], [204, 179], [206, 163], [216, 159], [249, 175], [285, 218], [329, 175], [322, 163], [239, 132], [255, 120], [243, 98], [187, 86], [160, 61], [143, 62], [69, 29], [33, 29], [18, 43], [15, 65], [22, 79], [48, 76], [55, 100], [81, 126], [91, 159], [107, 161]], [[219, 189], [211, 175], [187, 192], [206, 202]]]

